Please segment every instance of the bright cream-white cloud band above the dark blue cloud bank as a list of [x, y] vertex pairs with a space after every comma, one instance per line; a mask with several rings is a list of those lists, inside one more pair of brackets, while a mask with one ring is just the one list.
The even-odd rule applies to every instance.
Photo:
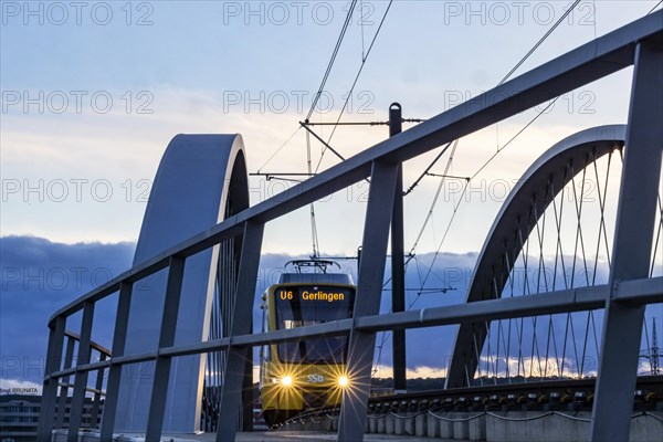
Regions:
[[[430, 85], [423, 88], [427, 93], [422, 91], [421, 94], [427, 101], [440, 103], [430, 96], [436, 88], [431, 88]], [[117, 103], [123, 103], [119, 98], [122, 91], [108, 93]], [[240, 133], [245, 141], [251, 172], [305, 172], [307, 137], [304, 129], [297, 129], [297, 122], [303, 119], [297, 106], [291, 106], [284, 113], [269, 108], [260, 112], [255, 106], [245, 109], [243, 95], [240, 104], [227, 103], [230, 93], [242, 95], [243, 91], [155, 86], [149, 91], [155, 98], [149, 114], [126, 113], [120, 105], [103, 115], [91, 109], [81, 114], [70, 109], [62, 115], [49, 112], [23, 113], [22, 106], [17, 106], [15, 109], [12, 107], [3, 115], [3, 130], [0, 135], [3, 146], [0, 166], [3, 171], [2, 198], [6, 204], [6, 210], [0, 214], [3, 231], [11, 234], [38, 234], [64, 242], [75, 242], [81, 238], [105, 241], [137, 238], [137, 227], [145, 211], [147, 193], [144, 192], [151, 186], [166, 146], [178, 133]], [[387, 103], [383, 106], [380, 104], [380, 107], [375, 108], [375, 115], [349, 114], [344, 122], [383, 119], [387, 107]], [[438, 104], [434, 112], [430, 113], [413, 108], [408, 110], [408, 115], [430, 117], [444, 107], [446, 105]], [[608, 106], [610, 109], [622, 107]], [[450, 173], [472, 176], [480, 165], [495, 154], [496, 146], [504, 147], [535, 114], [536, 110], [528, 110], [502, 122], [498, 129], [488, 127], [463, 137], [453, 164], [450, 162]], [[332, 113], [324, 119], [335, 115], [336, 113]], [[487, 220], [492, 218], [484, 217], [487, 214], [486, 210], [497, 211], [498, 201], [495, 200], [503, 200], [504, 189], [513, 185], [545, 149], [581, 128], [623, 120], [612, 116], [598, 118], [593, 114], [582, 114], [581, 117], [591, 117], [591, 120], [576, 118], [575, 114], [570, 117], [566, 106], [560, 103], [558, 108], [543, 116], [537, 125], [528, 127], [513, 143], [509, 141], [508, 148], [470, 185], [465, 199], [472, 199], [476, 203], [462, 206], [459, 214], [462, 217], [459, 219], [461, 222], [454, 225], [456, 234], [449, 241], [452, 250], [476, 250], [481, 246], [480, 243], [472, 242], [472, 232], [485, 231], [490, 227]], [[544, 122], [546, 125], [541, 126]], [[410, 127], [407, 125], [406, 129]], [[329, 133], [325, 131], [325, 127], [316, 127], [316, 130], [328, 139]], [[349, 158], [386, 137], [386, 129], [344, 126], [335, 131], [332, 145], [335, 150]], [[286, 140], [290, 141], [285, 143]], [[339, 161], [329, 151], [322, 156], [323, 146], [315, 139], [312, 140], [311, 148], [314, 166], [320, 161], [319, 170]], [[417, 180], [438, 152], [439, 149], [435, 149], [406, 162], [406, 187]], [[446, 157], [431, 172], [442, 173], [445, 164]], [[436, 178], [424, 178], [408, 197], [407, 225], [419, 225], [422, 221], [438, 181]], [[265, 177], [250, 177], [252, 202], [260, 202], [293, 185], [288, 181], [267, 180]], [[330, 234], [340, 238], [338, 244], [335, 244], [336, 249], [349, 251], [356, 246], [356, 240], [345, 239], [355, 229], [339, 229], [337, 221], [339, 214], [343, 214], [344, 219], [349, 218], [351, 225], [360, 225], [356, 221], [364, 217], [365, 204], [357, 202], [365, 202], [368, 190], [361, 185], [359, 182], [344, 189], [324, 204], [316, 204], [322, 211], [317, 220], [323, 248], [328, 246], [325, 239]], [[445, 182], [443, 197], [435, 212], [440, 222], [446, 219], [445, 213], [450, 213], [460, 198], [462, 187], [462, 180]], [[118, 212], [123, 217], [117, 217], [109, 224], [106, 220]], [[293, 218], [288, 219], [287, 225], [305, 229], [307, 221], [307, 217]], [[462, 245], [454, 243], [454, 238], [459, 236], [465, 236]], [[307, 238], [301, 235], [288, 241], [297, 246], [296, 250], [305, 250], [304, 246], [308, 245]], [[285, 244], [273, 240], [267, 246], [277, 252], [284, 250]]]

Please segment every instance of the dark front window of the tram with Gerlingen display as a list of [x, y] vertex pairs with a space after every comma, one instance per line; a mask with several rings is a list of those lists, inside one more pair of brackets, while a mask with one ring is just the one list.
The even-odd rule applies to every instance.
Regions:
[[[355, 291], [334, 286], [283, 286], [274, 292], [277, 327], [288, 329], [352, 315]], [[278, 345], [278, 358], [291, 364], [344, 364], [347, 336], [314, 338]]]

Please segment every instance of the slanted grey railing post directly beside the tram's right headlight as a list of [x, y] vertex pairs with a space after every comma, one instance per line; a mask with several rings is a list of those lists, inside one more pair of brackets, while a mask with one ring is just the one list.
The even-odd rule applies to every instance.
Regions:
[[[378, 161], [372, 164], [361, 242], [358, 293], [355, 299], [355, 318], [377, 315], [380, 311], [398, 169], [398, 164]], [[343, 393], [338, 441], [360, 442], [364, 440], [364, 423], [370, 392], [375, 348], [375, 332], [366, 333], [352, 329], [348, 343], [347, 361], [350, 387], [346, 388]]]

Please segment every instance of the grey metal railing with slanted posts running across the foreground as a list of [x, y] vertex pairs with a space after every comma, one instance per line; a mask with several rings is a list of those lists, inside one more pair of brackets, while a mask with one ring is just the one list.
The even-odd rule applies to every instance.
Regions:
[[[663, 278], [622, 275], [619, 278], [619, 284], [615, 280], [611, 284], [593, 287], [378, 315], [392, 202], [394, 193], [400, 192], [400, 189], [396, 189], [397, 175], [403, 161], [633, 64], [636, 64], [636, 75], [642, 72], [648, 75], [652, 74], [652, 76], [646, 84], [641, 80], [638, 87], [636, 82], [634, 82], [632, 115], [634, 109], [643, 108], [641, 112], [653, 113], [654, 116], [657, 116], [660, 115], [660, 105], [655, 102], [652, 103], [652, 99], [648, 99], [648, 97], [660, 97], [663, 92], [661, 81], [655, 78], [659, 69], [656, 63], [661, 64], [661, 60], [663, 60], [660, 44], [662, 38], [663, 12], [655, 12], [630, 23], [504, 83], [463, 105], [430, 118], [410, 130], [379, 143], [286, 190], [282, 194], [224, 220], [212, 229], [168, 249], [152, 260], [133, 267], [57, 311], [49, 320], [50, 337], [40, 440], [45, 441], [50, 438], [57, 389], [59, 387], [69, 389], [69, 382], [65, 382], [66, 386], [61, 386], [61, 382], [71, 376], [74, 376], [74, 385], [69, 440], [77, 440], [83, 400], [87, 389], [87, 376], [92, 371], [108, 369], [101, 439], [110, 441], [118, 404], [117, 391], [122, 368], [143, 361], [156, 361], [154, 383], [159, 388], [152, 389], [146, 439], [149, 441], [159, 440], [172, 358], [217, 350], [228, 351], [225, 378], [220, 398], [218, 438], [219, 440], [232, 440], [236, 428], [236, 413], [239, 412], [242, 385], [239, 380], [243, 376], [243, 370], [240, 367], [242, 367], [243, 359], [250, 348], [264, 344], [337, 335], [350, 336], [348, 370], [355, 380], [356, 387], [352, 394], [346, 393], [344, 396], [344, 407], [341, 408], [339, 421], [339, 440], [361, 440], [370, 385], [375, 333], [378, 330], [430, 327], [443, 324], [460, 324], [467, 320], [523, 317], [603, 307], [608, 307], [609, 311], [612, 309], [610, 315], [615, 317], [620, 313], [615, 311], [614, 305], [642, 306], [662, 302]], [[640, 62], [636, 62], [638, 57], [640, 57]], [[663, 77], [663, 74], [660, 76]], [[638, 145], [643, 137], [659, 143], [657, 146], [663, 146], [661, 136], [656, 133], [656, 127], [661, 127], [660, 125], [643, 127], [643, 125], [638, 125], [638, 120], [633, 118], [629, 120], [630, 135], [627, 139], [627, 146], [630, 146], [630, 143], [631, 147]], [[655, 164], [652, 167], [654, 166]], [[634, 179], [629, 176], [628, 171], [624, 175], [627, 181]], [[359, 293], [354, 318], [288, 330], [250, 334], [250, 330], [245, 327], [250, 324], [252, 314], [264, 224], [366, 178], [370, 178], [371, 185], [364, 228], [362, 257], [359, 266]], [[633, 227], [627, 222], [622, 223], [620, 228], [629, 229]], [[236, 236], [243, 236], [243, 241], [238, 284], [234, 303], [232, 304], [233, 328], [231, 337], [189, 345], [175, 345], [175, 329], [178, 322], [178, 306], [187, 259], [224, 240]], [[158, 345], [154, 350], [145, 354], [126, 355], [124, 349], [134, 284], [165, 269], [168, 271], [168, 282]], [[118, 293], [118, 306], [112, 356], [93, 362], [91, 361], [91, 335], [94, 308], [98, 301], [115, 293]], [[64, 338], [67, 336], [65, 332], [66, 320], [80, 311], [83, 311], [83, 318], [76, 364], [71, 367], [66, 365], [63, 367], [61, 361]], [[610, 318], [608, 318], [608, 322], [610, 322]], [[633, 322], [630, 325], [635, 327], [638, 324]], [[610, 339], [614, 339], [614, 337], [603, 337], [604, 346], [610, 345]], [[606, 340], [608, 340], [608, 344], [606, 344]], [[634, 367], [629, 366], [629, 368]], [[606, 386], [601, 385], [602, 369], [603, 366], [599, 368], [599, 398], [602, 394], [602, 389], [606, 389], [606, 391], [617, 389], [621, 393], [621, 387], [613, 385], [610, 378], [608, 378]], [[633, 369], [633, 382], [634, 379], [635, 370]], [[628, 382], [625, 383], [628, 390]], [[632, 389], [629, 394], [632, 394]], [[612, 403], [607, 406], [613, 407]], [[630, 419], [630, 408], [625, 411], [618, 410], [620, 412], [618, 417], [612, 415], [607, 419], [601, 413], [600, 407], [601, 403], [594, 407], [594, 415], [597, 415], [592, 420], [594, 429], [601, 427], [606, 429], [604, 431], [612, 431], [615, 425], [619, 427], [624, 423], [624, 419], [620, 420], [620, 418]], [[628, 428], [628, 425], [625, 427]], [[598, 433], [593, 434], [596, 439], [600, 439]]]

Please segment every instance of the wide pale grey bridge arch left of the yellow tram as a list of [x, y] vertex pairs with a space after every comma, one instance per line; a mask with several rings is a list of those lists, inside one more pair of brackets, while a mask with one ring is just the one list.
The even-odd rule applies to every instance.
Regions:
[[[134, 266], [148, 262], [176, 244], [204, 232], [249, 207], [249, 185], [240, 135], [178, 135], [159, 164]], [[227, 335], [230, 293], [239, 267], [241, 235], [187, 260], [175, 344], [192, 344]], [[154, 351], [160, 324], [168, 272], [136, 284], [131, 299], [125, 355]], [[166, 313], [168, 314], [168, 313]], [[221, 355], [210, 352], [173, 358], [164, 429], [191, 433], [200, 430], [206, 386], [221, 378]], [[211, 369], [210, 369], [211, 367]], [[212, 376], [213, 375], [213, 376]], [[149, 418], [155, 361], [123, 367], [116, 429], [143, 432]]]

